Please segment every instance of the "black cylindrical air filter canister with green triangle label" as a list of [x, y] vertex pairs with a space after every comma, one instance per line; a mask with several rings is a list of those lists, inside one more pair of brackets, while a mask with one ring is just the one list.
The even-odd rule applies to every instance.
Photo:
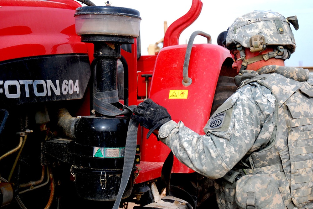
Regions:
[[[72, 173], [80, 197], [114, 201], [119, 191], [129, 118], [84, 116], [76, 126]], [[133, 175], [122, 198], [131, 195]]]

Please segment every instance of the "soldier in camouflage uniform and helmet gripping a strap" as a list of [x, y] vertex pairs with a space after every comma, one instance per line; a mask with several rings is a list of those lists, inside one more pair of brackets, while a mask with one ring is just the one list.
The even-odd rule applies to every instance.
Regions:
[[132, 119], [182, 163], [215, 180], [219, 208], [313, 208], [313, 77], [286, 67], [295, 51], [290, 24], [272, 11], [237, 18], [225, 46], [238, 90], [199, 135], [150, 99]]

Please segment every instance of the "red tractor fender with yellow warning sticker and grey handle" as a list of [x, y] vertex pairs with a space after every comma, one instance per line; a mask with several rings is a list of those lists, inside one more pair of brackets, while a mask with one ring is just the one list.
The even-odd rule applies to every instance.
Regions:
[[[213, 102], [215, 87], [224, 60], [229, 51], [213, 44], [194, 44], [190, 56], [188, 74], [192, 79], [190, 86], [182, 84], [182, 69], [187, 45], [174, 45], [163, 48], [157, 58], [152, 76], [149, 98], [167, 108], [172, 120], [181, 120], [188, 128], [204, 134]], [[171, 97], [171, 90], [177, 90], [178, 97]], [[180, 90], [180, 91], [178, 91]], [[185, 95], [180, 95], [184, 92]], [[179, 94], [179, 95], [178, 95]], [[186, 95], [187, 94], [187, 95]], [[187, 96], [182, 98], [182, 96]], [[147, 130], [143, 131], [143, 161], [162, 162], [169, 153], [169, 148], [158, 142], [152, 134], [146, 139]], [[175, 173], [193, 172], [175, 158]]]

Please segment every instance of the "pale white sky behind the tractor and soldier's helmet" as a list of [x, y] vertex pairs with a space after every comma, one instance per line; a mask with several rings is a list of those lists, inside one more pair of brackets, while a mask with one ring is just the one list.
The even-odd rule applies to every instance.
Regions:
[[[91, 0], [97, 6], [105, 5], [104, 0]], [[164, 21], [170, 26], [175, 20], [186, 14], [192, 0], [111, 0], [111, 6], [136, 9], [140, 12], [141, 55], [148, 55], [149, 44], [154, 44], [164, 36]], [[233, 21], [253, 10], [272, 10], [285, 18], [297, 15], [299, 29], [291, 26], [297, 48], [287, 66], [313, 66], [313, 1], [312, 0], [202, 0], [203, 7], [198, 19], [185, 29], [179, 38], [179, 44], [186, 44], [192, 32], [200, 30], [212, 37], [212, 44], [217, 44], [217, 37]], [[194, 43], [206, 43], [206, 38], [196, 36]]]

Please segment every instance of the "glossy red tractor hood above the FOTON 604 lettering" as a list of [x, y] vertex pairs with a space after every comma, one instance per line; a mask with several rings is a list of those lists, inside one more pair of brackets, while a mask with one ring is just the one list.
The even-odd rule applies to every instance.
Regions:
[[1, 6], [0, 61], [87, 53], [86, 44], [75, 33], [74, 13], [79, 3], [7, 0]]

